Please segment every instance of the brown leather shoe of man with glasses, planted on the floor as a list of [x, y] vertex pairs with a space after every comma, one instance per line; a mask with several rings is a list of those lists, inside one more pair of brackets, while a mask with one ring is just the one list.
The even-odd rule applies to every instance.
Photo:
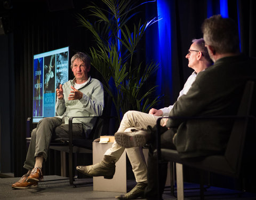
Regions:
[[126, 193], [125, 195], [116, 196], [118, 199], [136, 199], [136, 198], [144, 198], [145, 194], [145, 188], [147, 187], [147, 183], [144, 182], [138, 182], [137, 185], [129, 191], [129, 193]]

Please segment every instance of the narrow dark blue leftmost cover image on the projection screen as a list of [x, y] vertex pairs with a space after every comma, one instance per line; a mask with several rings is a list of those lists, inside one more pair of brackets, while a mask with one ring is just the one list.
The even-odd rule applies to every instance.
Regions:
[[34, 59], [33, 117], [43, 116], [43, 58]]

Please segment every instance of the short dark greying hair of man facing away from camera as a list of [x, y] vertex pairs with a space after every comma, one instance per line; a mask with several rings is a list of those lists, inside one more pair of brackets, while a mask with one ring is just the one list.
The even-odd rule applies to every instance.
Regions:
[[230, 18], [213, 15], [202, 24], [204, 41], [218, 53], [239, 52], [239, 34], [236, 23]]

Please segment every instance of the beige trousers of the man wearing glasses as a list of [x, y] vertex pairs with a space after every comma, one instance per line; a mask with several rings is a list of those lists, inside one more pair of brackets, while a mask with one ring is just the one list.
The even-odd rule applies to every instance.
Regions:
[[[131, 129], [147, 129], [148, 125], [156, 125], [157, 118], [159, 116], [134, 110], [127, 111], [117, 132], [128, 132]], [[163, 124], [163, 120], [161, 124]], [[115, 157], [117, 162], [122, 156], [124, 149], [124, 147], [121, 147], [115, 141], [112, 147], [106, 151], [105, 155]], [[147, 166], [141, 147], [126, 148], [126, 153], [130, 159], [136, 182], [147, 182]]]

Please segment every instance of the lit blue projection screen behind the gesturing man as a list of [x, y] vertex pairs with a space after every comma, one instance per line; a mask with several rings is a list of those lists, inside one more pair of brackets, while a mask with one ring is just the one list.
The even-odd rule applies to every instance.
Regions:
[[34, 55], [33, 122], [54, 117], [56, 88], [68, 81], [68, 47]]

